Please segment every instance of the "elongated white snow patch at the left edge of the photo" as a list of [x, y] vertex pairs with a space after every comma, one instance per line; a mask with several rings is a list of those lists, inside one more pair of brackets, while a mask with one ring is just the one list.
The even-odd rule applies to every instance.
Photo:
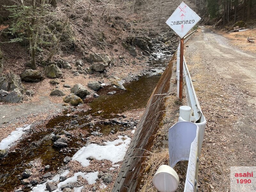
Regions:
[[0, 149], [7, 149], [11, 147], [11, 144], [19, 140], [26, 130], [30, 129], [31, 125], [24, 125], [11, 132], [8, 137], [4, 138], [0, 143]]

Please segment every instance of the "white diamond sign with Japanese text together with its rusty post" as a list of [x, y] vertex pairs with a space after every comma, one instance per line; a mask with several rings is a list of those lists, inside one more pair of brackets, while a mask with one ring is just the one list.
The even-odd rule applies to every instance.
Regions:
[[166, 21], [166, 24], [169, 25], [169, 27], [172, 28], [172, 30], [174, 30], [178, 36], [180, 36], [180, 101], [182, 100], [184, 36], [196, 25], [199, 20], [201, 20], [201, 17], [199, 17], [192, 9], [188, 7], [188, 5], [182, 1]]

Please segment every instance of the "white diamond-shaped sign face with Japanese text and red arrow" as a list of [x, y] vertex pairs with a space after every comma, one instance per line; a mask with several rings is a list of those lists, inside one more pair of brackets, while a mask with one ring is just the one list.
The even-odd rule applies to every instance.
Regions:
[[201, 17], [182, 1], [166, 23], [180, 38], [183, 38], [199, 20]]

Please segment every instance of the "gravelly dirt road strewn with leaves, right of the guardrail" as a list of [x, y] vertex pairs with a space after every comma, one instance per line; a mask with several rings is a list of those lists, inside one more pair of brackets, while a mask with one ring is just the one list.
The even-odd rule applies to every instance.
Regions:
[[238, 50], [209, 28], [201, 28], [186, 45], [185, 58], [207, 119], [199, 191], [230, 191], [230, 167], [256, 164], [256, 55]]

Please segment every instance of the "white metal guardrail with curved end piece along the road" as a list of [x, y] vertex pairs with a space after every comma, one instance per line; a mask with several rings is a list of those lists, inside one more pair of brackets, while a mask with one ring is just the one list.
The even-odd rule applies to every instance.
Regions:
[[[187, 41], [196, 32], [193, 31], [184, 37]], [[180, 45], [177, 51], [177, 96], [179, 95]], [[169, 129], [169, 157], [170, 166], [179, 161], [188, 161], [184, 192], [197, 192], [199, 156], [202, 150], [206, 120], [196, 97], [186, 60], [183, 56], [183, 78], [188, 106], [191, 107], [189, 121], [185, 121], [180, 113], [178, 123]], [[190, 110], [190, 109], [189, 109]], [[189, 115], [189, 114], [188, 114]], [[185, 117], [184, 117], [185, 118]], [[193, 121], [194, 123], [190, 122]], [[164, 173], [163, 174], [169, 174]], [[178, 181], [177, 181], [178, 182]], [[168, 191], [168, 190], [167, 190]]]

